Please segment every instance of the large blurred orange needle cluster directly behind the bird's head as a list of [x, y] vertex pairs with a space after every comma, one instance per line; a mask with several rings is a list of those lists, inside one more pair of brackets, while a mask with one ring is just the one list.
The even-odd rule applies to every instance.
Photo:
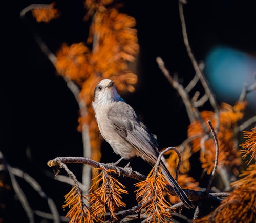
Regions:
[[[116, 9], [106, 8], [112, 0], [86, 1], [87, 16], [92, 16], [87, 45], [63, 44], [56, 54], [57, 72], [74, 81], [81, 88], [79, 99], [87, 106], [87, 114], [79, 118], [78, 130], [89, 125], [91, 158], [101, 158], [101, 135], [91, 107], [94, 88], [103, 78], [115, 82], [119, 91], [134, 92], [137, 76], [129, 69], [138, 53], [137, 30], [133, 27], [133, 17], [119, 13]], [[91, 48], [89, 48], [91, 47]]]

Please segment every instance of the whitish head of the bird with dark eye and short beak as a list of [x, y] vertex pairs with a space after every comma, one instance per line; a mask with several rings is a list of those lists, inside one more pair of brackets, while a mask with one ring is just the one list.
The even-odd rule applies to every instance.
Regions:
[[93, 105], [106, 105], [115, 101], [122, 101], [116, 91], [114, 82], [110, 79], [101, 80], [94, 89]]

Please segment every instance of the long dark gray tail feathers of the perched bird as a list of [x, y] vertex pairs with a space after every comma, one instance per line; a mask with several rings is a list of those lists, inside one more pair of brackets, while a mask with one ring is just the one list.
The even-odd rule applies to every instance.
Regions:
[[161, 171], [162, 171], [163, 175], [166, 177], [170, 186], [174, 189], [175, 193], [179, 196], [182, 203], [187, 208], [194, 208], [194, 205], [192, 204], [192, 202], [188, 199], [187, 195], [182, 190], [182, 188], [177, 183], [177, 181], [172, 177], [172, 175], [170, 175], [168, 169], [166, 168], [166, 166], [164, 165], [164, 163], [162, 161], [161, 161]]

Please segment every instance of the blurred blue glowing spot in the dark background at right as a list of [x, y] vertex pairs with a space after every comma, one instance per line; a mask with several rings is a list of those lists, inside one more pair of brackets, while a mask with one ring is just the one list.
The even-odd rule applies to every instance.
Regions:
[[[205, 59], [205, 76], [218, 100], [238, 100], [243, 85], [255, 83], [256, 58], [227, 46], [213, 48]], [[248, 106], [256, 111], [256, 91], [246, 96]]]

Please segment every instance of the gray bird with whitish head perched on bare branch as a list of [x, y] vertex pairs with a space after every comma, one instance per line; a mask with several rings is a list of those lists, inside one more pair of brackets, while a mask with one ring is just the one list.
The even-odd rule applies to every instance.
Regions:
[[[121, 156], [119, 161], [137, 156], [151, 165], [156, 164], [160, 149], [155, 137], [141, 122], [134, 109], [120, 97], [112, 80], [103, 79], [97, 84], [92, 106], [100, 133], [114, 152]], [[186, 207], [193, 208], [193, 204], [162, 161], [160, 165], [163, 175], [180, 200]]]

